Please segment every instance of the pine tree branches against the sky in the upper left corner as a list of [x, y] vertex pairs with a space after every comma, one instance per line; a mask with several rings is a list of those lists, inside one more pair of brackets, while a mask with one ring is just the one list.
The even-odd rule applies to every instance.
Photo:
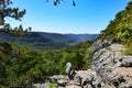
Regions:
[[0, 0], [0, 32], [8, 33], [14, 36], [23, 36], [28, 34], [30, 29], [23, 30], [22, 25], [12, 29], [9, 23], [6, 23], [6, 18], [12, 18], [21, 21], [25, 14], [25, 10], [20, 11], [19, 8], [11, 8], [11, 0]]

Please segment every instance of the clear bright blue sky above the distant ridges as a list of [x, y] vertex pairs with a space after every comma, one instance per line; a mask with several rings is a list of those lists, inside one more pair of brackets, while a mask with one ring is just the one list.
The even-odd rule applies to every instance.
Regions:
[[31, 26], [32, 31], [54, 33], [99, 33], [105, 30], [110, 20], [123, 10], [131, 0], [64, 0], [62, 4], [53, 6], [53, 0], [12, 0], [12, 7], [26, 9], [21, 22], [7, 19], [12, 26], [22, 24]]

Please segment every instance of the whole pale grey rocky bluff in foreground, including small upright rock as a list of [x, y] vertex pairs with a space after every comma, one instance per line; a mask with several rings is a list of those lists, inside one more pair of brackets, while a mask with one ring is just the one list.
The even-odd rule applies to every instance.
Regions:
[[132, 56], [122, 54], [124, 45], [105, 40], [96, 41], [89, 50], [95, 52], [90, 69], [77, 72], [67, 63], [67, 76], [50, 77], [40, 88], [48, 88], [53, 81], [54, 88], [132, 88]]

